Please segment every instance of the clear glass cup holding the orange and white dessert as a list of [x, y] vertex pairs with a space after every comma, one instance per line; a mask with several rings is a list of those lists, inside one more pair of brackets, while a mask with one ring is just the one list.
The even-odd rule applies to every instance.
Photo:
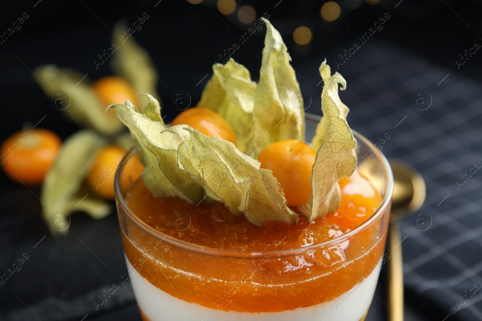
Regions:
[[[307, 141], [319, 119], [307, 114]], [[393, 177], [385, 156], [362, 135], [354, 135], [357, 171], [381, 195], [381, 205], [345, 234], [288, 250], [220, 250], [155, 230], [125, 203], [132, 183], [123, 177], [124, 162], [116, 173], [116, 204], [128, 273], [143, 319], [364, 320], [384, 257]], [[182, 229], [187, 229], [189, 221], [184, 223]], [[298, 269], [286, 273], [288, 265]]]

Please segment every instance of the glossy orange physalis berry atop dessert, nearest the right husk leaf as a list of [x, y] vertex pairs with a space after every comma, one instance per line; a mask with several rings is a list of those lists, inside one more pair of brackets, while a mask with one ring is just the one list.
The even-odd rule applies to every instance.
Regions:
[[258, 156], [262, 168], [270, 169], [283, 189], [288, 206], [308, 202], [311, 194], [311, 170], [316, 152], [304, 141], [277, 141]]

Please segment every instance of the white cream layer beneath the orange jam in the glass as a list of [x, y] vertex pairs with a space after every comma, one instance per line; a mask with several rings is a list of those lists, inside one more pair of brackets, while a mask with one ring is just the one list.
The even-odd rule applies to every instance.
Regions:
[[[127, 268], [135, 271], [125, 258]], [[236, 312], [203, 307], [169, 295], [138, 272], [131, 275], [137, 304], [150, 321], [360, 321], [375, 293], [380, 264], [362, 282], [344, 295], [308, 308], [281, 312]]]

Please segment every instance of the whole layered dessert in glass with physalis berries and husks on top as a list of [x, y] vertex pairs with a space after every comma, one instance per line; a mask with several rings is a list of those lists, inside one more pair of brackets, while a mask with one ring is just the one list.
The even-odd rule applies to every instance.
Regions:
[[360, 321], [370, 307], [388, 226], [387, 162], [348, 127], [338, 97], [346, 82], [326, 61], [323, 117], [305, 142], [291, 58], [263, 22], [259, 83], [233, 60], [214, 65], [198, 106], [171, 126], [150, 95], [142, 111], [109, 106], [145, 165], [142, 177], [122, 166], [116, 174], [145, 321]]

